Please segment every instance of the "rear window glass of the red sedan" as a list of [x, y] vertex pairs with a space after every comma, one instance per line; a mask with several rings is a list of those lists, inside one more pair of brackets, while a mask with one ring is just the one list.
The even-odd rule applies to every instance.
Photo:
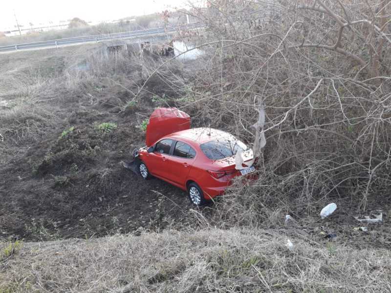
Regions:
[[200, 145], [202, 152], [211, 160], [221, 160], [236, 155], [238, 150], [247, 150], [248, 147], [241, 141], [232, 138], [218, 139]]

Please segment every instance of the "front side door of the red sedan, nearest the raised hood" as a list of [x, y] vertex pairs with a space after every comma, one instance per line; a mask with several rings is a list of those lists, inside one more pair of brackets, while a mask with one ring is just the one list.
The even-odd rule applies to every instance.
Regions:
[[167, 156], [170, 154], [173, 145], [172, 139], [162, 139], [155, 145], [155, 149], [149, 154], [147, 167], [152, 175], [167, 178]]

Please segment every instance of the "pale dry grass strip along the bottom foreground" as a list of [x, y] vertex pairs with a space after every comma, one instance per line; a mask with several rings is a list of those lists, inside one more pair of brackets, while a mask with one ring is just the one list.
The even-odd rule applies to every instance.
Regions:
[[0, 264], [0, 292], [391, 290], [390, 251], [291, 240], [293, 252], [279, 232], [246, 229], [25, 243]]

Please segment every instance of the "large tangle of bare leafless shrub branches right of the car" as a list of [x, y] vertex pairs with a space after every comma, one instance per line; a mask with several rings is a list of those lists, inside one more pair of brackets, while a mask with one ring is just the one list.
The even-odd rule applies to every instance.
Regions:
[[[203, 56], [185, 63], [182, 75], [168, 74], [172, 61], [149, 71], [177, 91], [176, 105], [192, 115], [194, 126], [223, 128], [247, 143], [254, 139], [258, 99], [264, 103], [259, 186], [274, 198], [268, 209], [280, 198], [286, 211], [336, 198], [348, 199], [353, 209], [382, 208], [378, 199], [387, 202], [391, 182], [391, 40], [384, 5], [211, 2], [193, 10], [206, 23], [195, 43]], [[245, 207], [260, 211], [259, 189], [235, 192], [254, 193]]]

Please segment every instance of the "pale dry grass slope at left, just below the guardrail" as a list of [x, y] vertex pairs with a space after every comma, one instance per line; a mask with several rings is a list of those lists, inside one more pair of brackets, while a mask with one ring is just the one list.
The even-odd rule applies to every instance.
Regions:
[[[0, 67], [2, 164], [19, 152], [16, 147], [24, 151], [60, 125], [70, 114], [63, 105], [97, 103], [94, 95], [118, 86], [115, 80], [137, 80], [128, 52], [110, 54], [97, 44], [2, 54]], [[117, 100], [121, 110], [126, 103]]]

